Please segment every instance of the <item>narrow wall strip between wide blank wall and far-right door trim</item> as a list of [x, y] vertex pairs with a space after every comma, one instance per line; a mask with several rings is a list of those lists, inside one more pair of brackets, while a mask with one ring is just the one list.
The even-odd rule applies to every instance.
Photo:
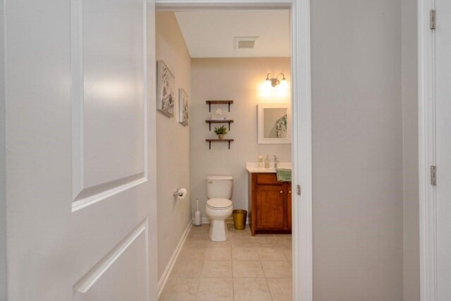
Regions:
[[416, 0], [402, 0], [404, 301], [420, 300]]

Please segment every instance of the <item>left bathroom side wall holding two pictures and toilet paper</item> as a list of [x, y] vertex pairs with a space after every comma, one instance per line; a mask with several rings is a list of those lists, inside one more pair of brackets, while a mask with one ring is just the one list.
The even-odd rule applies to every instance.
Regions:
[[[191, 220], [190, 204], [190, 128], [178, 123], [178, 88], [191, 96], [190, 54], [172, 12], [156, 13], [156, 59], [162, 60], [175, 77], [175, 117], [156, 112], [156, 167], [158, 197], [159, 277]], [[188, 195], [176, 200], [176, 188], [187, 188]]]

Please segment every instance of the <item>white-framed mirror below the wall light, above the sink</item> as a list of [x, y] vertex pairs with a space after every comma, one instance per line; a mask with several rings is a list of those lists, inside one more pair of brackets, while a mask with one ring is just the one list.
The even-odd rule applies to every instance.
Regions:
[[259, 145], [291, 143], [290, 105], [283, 103], [258, 104]]

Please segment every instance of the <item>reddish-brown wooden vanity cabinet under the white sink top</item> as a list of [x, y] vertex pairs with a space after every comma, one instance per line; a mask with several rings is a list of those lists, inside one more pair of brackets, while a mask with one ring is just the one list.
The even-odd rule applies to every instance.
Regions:
[[278, 182], [276, 173], [250, 173], [249, 209], [252, 235], [291, 233], [291, 182]]

